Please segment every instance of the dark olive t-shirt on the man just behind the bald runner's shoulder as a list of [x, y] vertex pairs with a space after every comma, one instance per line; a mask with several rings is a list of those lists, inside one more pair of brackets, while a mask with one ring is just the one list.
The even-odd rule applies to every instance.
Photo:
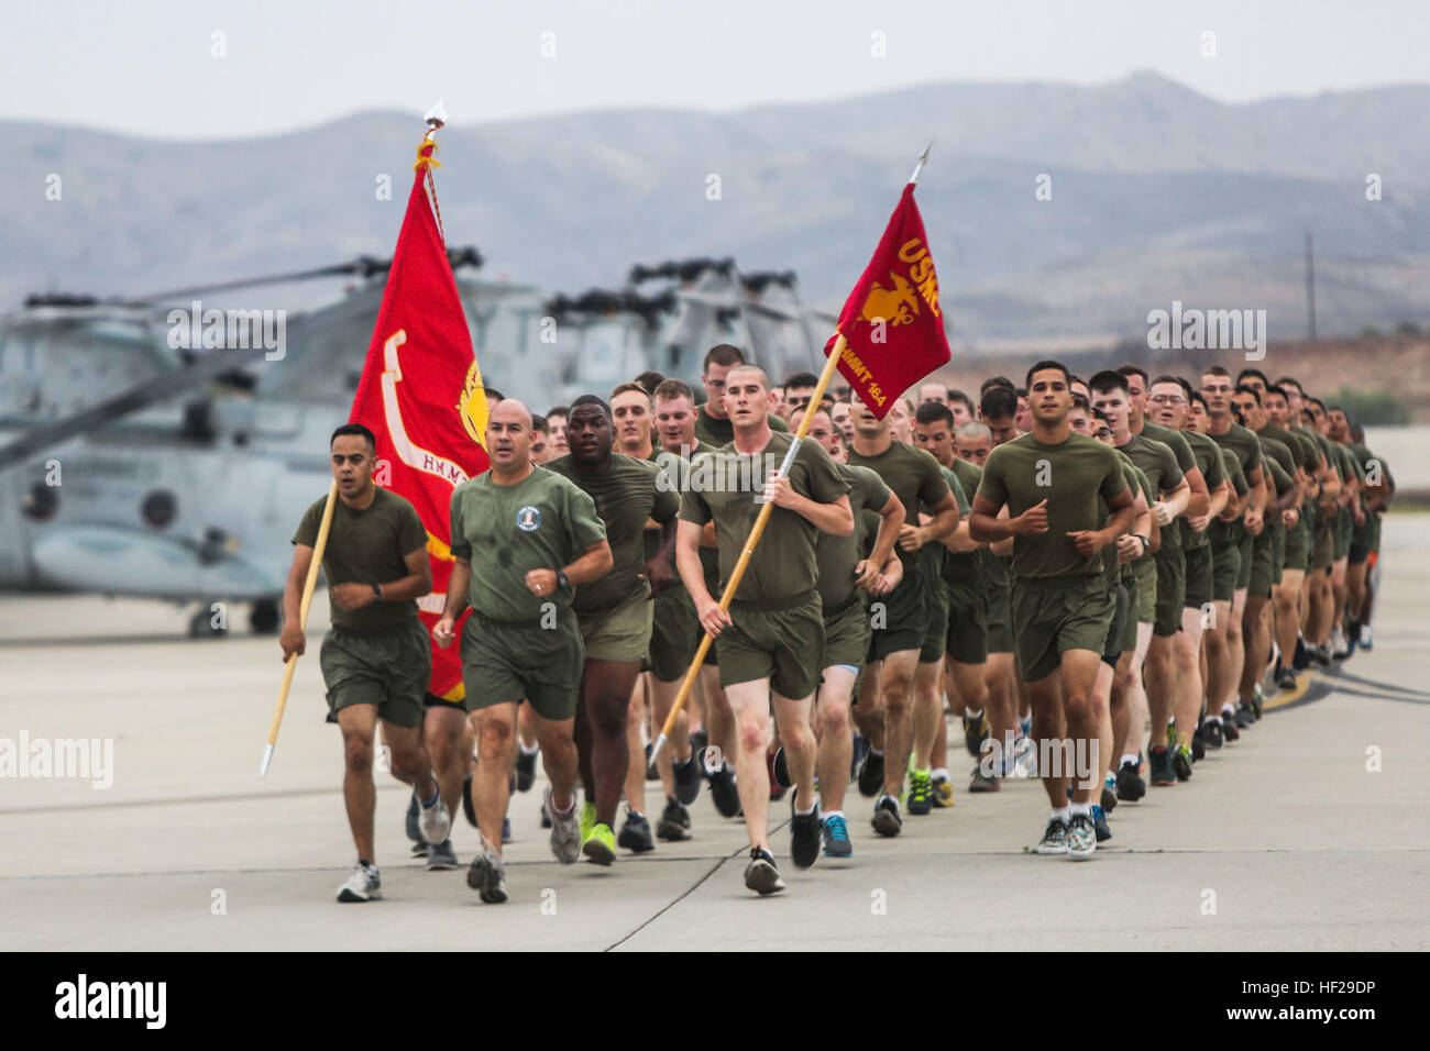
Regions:
[[681, 510], [681, 498], [662, 482], [661, 468], [625, 453], [611, 453], [611, 463], [599, 475], [583, 472], [571, 455], [558, 456], [546, 469], [569, 478], [596, 505], [596, 518], [606, 525], [613, 565], [599, 581], [576, 588], [571, 608], [576, 616], [599, 616], [646, 589], [641, 576], [645, 568], [645, 523], [669, 522]]

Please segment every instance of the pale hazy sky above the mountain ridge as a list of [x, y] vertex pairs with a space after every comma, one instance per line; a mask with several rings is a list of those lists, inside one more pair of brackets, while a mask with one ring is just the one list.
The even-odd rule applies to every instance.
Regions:
[[41, 0], [0, 33], [0, 119], [182, 139], [439, 96], [466, 124], [1140, 69], [1227, 102], [1430, 80], [1426, 0]]

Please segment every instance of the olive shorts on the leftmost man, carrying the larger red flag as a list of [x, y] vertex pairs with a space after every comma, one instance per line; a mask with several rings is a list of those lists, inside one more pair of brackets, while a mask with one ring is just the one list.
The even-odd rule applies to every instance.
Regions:
[[432, 643], [418, 618], [372, 635], [329, 628], [317, 666], [327, 688], [327, 722], [337, 722], [339, 708], [376, 705], [383, 722], [422, 725], [422, 699], [432, 679]]

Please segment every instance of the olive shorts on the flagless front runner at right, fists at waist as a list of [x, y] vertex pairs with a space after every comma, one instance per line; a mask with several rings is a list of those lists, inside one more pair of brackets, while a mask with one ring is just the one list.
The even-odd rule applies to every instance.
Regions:
[[1101, 656], [1114, 612], [1113, 592], [1101, 573], [1015, 576], [1010, 592], [1014, 653], [1024, 682], [1050, 676], [1068, 649]]

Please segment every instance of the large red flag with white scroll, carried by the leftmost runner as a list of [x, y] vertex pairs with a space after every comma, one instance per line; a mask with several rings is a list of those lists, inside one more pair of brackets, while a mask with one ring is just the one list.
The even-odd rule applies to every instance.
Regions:
[[[373, 479], [408, 499], [428, 528], [432, 593], [418, 606], [429, 638], [452, 575], [452, 490], [488, 468], [486, 393], [439, 224], [435, 149], [433, 143], [418, 149], [418, 174], [350, 418], [378, 438]], [[428, 688], [448, 701], [462, 699], [456, 646], [432, 646]]]

